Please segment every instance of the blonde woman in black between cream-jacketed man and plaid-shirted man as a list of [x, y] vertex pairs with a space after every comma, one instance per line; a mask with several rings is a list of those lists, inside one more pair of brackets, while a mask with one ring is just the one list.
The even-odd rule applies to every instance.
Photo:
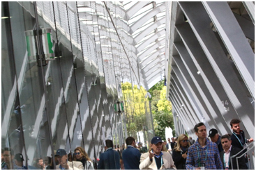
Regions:
[[172, 159], [174, 161], [174, 165], [176, 165], [177, 170], [186, 170], [188, 147], [190, 147], [188, 136], [181, 134], [178, 137], [176, 147], [174, 147], [174, 150], [172, 151]]

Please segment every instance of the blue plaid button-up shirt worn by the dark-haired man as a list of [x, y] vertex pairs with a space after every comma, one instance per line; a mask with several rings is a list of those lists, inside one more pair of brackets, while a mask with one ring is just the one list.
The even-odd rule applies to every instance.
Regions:
[[199, 145], [198, 138], [195, 144], [191, 145], [188, 148], [186, 169], [195, 170], [199, 167], [199, 161], [201, 161], [201, 163], [204, 163], [204, 169], [206, 170], [223, 169], [223, 163], [221, 163], [220, 154], [218, 152], [218, 147], [216, 143], [210, 142], [207, 138], [204, 148]]

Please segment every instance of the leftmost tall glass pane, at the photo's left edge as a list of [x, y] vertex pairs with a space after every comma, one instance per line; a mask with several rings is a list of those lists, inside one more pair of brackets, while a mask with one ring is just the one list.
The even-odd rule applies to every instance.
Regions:
[[[1, 63], [2, 63], [2, 96], [1, 96], [1, 147], [2, 147], [2, 168], [20, 169], [26, 165], [27, 155], [24, 151], [24, 138], [22, 129], [23, 114], [20, 108], [20, 99], [17, 91], [17, 75], [13, 56], [13, 41], [10, 26], [10, 10], [8, 2], [1, 2]], [[13, 16], [15, 17], [15, 16]], [[9, 149], [8, 149], [9, 147]], [[13, 157], [22, 154], [25, 162], [20, 166], [15, 164]], [[20, 154], [18, 154], [20, 156]]]

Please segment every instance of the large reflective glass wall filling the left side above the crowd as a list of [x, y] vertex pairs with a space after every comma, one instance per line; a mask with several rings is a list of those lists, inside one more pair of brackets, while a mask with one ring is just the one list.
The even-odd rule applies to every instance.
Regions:
[[80, 146], [96, 169], [105, 140], [121, 148], [143, 131], [147, 143], [149, 102], [114, 33], [111, 18], [123, 26], [117, 4], [107, 3], [111, 16], [101, 2], [1, 4], [2, 150], [21, 153], [29, 169], [56, 169], [57, 149], [74, 156]]

